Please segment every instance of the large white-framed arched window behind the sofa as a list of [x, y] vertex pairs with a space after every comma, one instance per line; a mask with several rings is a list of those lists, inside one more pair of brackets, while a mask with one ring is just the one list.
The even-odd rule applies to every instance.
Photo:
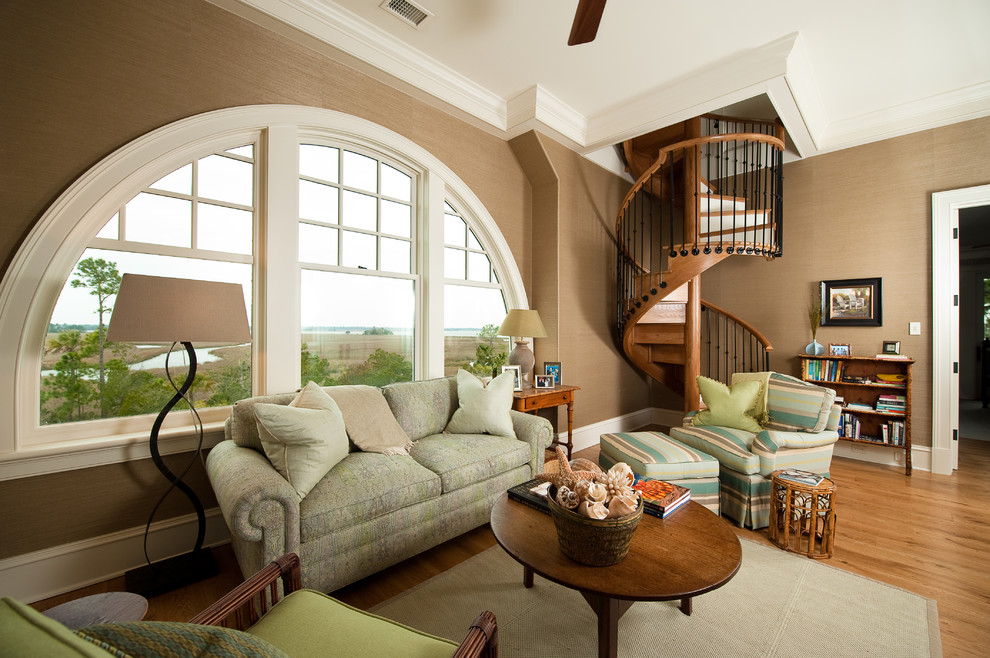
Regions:
[[[526, 305], [484, 206], [400, 135], [292, 106], [179, 121], [80, 177], [5, 273], [0, 340], [17, 349], [0, 353], [0, 468], [39, 454], [76, 454], [51, 468], [143, 456], [146, 413], [160, 405], [137, 393], [161, 348], [98, 348], [113, 302], [101, 286], [124, 272], [244, 287], [252, 345], [197, 346], [213, 350], [195, 400], [214, 430], [222, 405], [308, 378], [381, 385], [470, 365], [445, 336], [473, 332], [471, 351], [483, 324]], [[188, 422], [171, 414], [173, 450]]]

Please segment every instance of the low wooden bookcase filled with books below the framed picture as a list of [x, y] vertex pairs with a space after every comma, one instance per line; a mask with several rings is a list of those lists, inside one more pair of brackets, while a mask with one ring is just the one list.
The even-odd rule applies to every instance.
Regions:
[[798, 358], [801, 379], [831, 388], [842, 404], [840, 440], [903, 450], [904, 474], [911, 475], [914, 359], [807, 354]]

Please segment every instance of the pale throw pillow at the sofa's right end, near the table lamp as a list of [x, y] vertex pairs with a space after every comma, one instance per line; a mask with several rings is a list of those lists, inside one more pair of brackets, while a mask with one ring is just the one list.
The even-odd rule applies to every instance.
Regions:
[[485, 386], [466, 370], [457, 371], [459, 407], [445, 431], [453, 434], [495, 434], [515, 438], [512, 429], [512, 388], [515, 373], [503, 372]]

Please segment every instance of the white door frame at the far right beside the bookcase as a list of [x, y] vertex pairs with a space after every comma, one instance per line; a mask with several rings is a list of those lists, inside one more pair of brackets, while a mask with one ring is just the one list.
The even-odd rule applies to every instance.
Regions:
[[932, 194], [932, 472], [959, 468], [959, 210], [990, 205], [990, 185]]

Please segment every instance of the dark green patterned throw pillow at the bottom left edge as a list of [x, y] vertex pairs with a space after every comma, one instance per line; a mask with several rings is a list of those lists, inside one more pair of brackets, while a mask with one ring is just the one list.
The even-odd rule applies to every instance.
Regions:
[[76, 634], [115, 656], [286, 658], [278, 647], [243, 631], [172, 621], [134, 621], [80, 628]]

